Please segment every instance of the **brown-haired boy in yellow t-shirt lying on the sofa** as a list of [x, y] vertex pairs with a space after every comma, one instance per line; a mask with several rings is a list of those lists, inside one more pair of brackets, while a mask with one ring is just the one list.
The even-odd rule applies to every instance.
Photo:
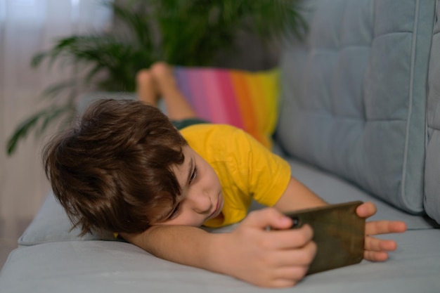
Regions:
[[[288, 229], [292, 221], [282, 212], [326, 203], [244, 131], [200, 124], [167, 64], [139, 72], [137, 81], [145, 103], [98, 101], [44, 150], [46, 174], [74, 225], [83, 234], [112, 231], [160, 258], [254, 285], [295, 285], [316, 245], [309, 226]], [[169, 119], [198, 124], [174, 128], [156, 108], [160, 95]], [[271, 208], [246, 216], [251, 197]], [[362, 204], [357, 213], [368, 218], [375, 206]], [[199, 228], [239, 221], [231, 233]], [[371, 235], [406, 225], [374, 221], [365, 230], [365, 259], [384, 261], [396, 243]]]

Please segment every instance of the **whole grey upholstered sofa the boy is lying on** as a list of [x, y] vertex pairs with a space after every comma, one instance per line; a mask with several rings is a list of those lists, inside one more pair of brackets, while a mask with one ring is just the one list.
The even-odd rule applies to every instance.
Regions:
[[308, 37], [286, 44], [280, 60], [275, 151], [328, 202], [372, 201], [372, 219], [406, 221], [406, 233], [386, 235], [399, 244], [388, 261], [262, 289], [111, 235], [78, 237], [49, 195], [1, 271], [0, 291], [440, 292], [439, 1], [303, 5]]

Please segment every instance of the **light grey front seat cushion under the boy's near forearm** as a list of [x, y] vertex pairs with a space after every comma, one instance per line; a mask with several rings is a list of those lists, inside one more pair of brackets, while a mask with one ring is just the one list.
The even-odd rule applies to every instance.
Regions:
[[1, 292], [399, 292], [440, 289], [440, 233], [387, 235], [399, 249], [385, 263], [307, 276], [296, 287], [257, 288], [226, 275], [157, 259], [134, 245], [109, 241], [51, 242], [19, 247], [0, 272]]

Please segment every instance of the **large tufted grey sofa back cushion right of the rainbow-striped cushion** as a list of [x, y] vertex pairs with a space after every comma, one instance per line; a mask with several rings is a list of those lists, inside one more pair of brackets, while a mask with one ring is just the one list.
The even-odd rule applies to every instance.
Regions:
[[309, 35], [280, 63], [283, 148], [411, 213], [423, 212], [435, 2], [307, 1]]

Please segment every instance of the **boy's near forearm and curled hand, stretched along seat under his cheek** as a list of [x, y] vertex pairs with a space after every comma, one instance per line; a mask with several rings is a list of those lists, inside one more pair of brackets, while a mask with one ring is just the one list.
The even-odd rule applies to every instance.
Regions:
[[[274, 231], [266, 228], [273, 227]], [[153, 226], [125, 235], [147, 252], [188, 266], [231, 275], [264, 287], [291, 287], [304, 278], [316, 254], [309, 226], [288, 229], [292, 221], [276, 209], [253, 211], [231, 233], [207, 233], [190, 226]]]

